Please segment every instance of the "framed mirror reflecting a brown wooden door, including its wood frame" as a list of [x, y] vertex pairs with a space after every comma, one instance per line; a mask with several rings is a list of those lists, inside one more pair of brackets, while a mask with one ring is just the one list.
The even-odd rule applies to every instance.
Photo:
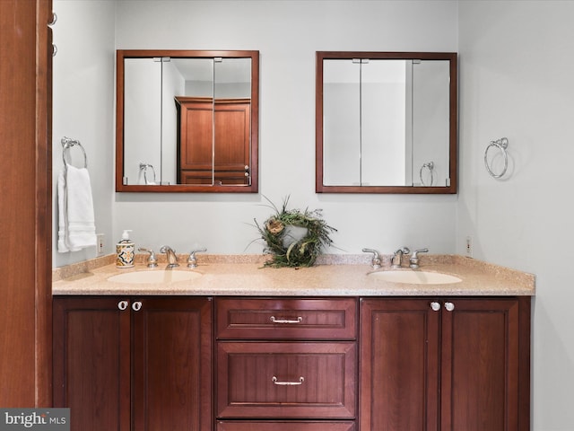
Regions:
[[258, 189], [259, 52], [117, 50], [116, 190]]

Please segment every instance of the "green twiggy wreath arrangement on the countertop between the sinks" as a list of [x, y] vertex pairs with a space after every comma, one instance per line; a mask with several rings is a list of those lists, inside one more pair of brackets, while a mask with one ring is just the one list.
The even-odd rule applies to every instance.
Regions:
[[311, 267], [321, 251], [333, 243], [330, 234], [336, 229], [326, 224], [320, 209], [287, 209], [287, 197], [279, 210], [267, 200], [275, 214], [267, 218], [263, 225], [254, 219], [261, 238], [267, 244], [265, 253], [273, 255], [265, 262], [265, 267]]

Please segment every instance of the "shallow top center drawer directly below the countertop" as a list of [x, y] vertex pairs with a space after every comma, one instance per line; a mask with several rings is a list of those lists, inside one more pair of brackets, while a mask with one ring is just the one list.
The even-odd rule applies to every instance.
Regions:
[[357, 302], [329, 299], [216, 299], [218, 339], [355, 339]]

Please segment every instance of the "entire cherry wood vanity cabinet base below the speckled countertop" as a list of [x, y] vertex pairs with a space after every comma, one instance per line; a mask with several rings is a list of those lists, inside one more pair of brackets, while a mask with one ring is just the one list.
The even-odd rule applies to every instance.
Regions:
[[54, 300], [73, 430], [526, 431], [529, 356], [529, 296]]

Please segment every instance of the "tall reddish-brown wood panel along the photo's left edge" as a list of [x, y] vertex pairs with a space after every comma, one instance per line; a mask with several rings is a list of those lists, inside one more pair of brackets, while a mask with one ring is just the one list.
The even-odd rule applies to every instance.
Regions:
[[51, 0], [0, 0], [2, 408], [52, 402], [51, 21]]

